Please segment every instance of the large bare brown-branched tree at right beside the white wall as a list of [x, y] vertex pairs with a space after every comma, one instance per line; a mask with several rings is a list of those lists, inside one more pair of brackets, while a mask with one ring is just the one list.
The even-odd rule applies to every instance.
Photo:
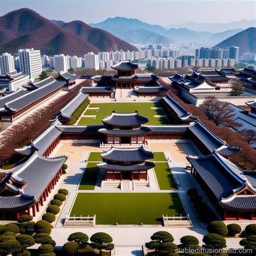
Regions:
[[216, 126], [225, 123], [228, 126], [239, 126], [232, 118], [235, 116], [233, 108], [228, 102], [221, 102], [213, 96], [208, 96], [200, 106], [208, 117]]

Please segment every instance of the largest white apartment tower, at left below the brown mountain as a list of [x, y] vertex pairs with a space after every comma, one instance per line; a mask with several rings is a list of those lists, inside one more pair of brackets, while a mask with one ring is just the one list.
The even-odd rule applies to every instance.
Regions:
[[40, 50], [19, 49], [19, 68], [23, 74], [30, 78], [37, 78], [42, 73], [42, 60]]

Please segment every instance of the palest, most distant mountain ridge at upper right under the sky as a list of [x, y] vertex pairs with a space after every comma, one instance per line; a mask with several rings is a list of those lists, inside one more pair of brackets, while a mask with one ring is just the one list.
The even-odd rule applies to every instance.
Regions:
[[172, 24], [166, 26], [166, 29], [179, 29], [187, 28], [195, 31], [209, 31], [213, 33], [218, 33], [225, 30], [234, 29], [247, 29], [251, 26], [256, 26], [256, 19], [248, 21], [247, 19], [242, 19], [241, 21], [230, 22], [230, 23], [196, 23], [196, 22], [184, 22], [180, 24]]

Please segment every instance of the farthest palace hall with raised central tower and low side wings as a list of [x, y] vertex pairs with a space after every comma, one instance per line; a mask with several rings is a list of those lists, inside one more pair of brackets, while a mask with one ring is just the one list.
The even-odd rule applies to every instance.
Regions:
[[130, 60], [121, 60], [111, 68], [117, 70], [116, 75], [92, 77], [92, 86], [83, 87], [83, 92], [90, 97], [111, 97], [117, 89], [134, 89], [138, 97], [159, 97], [167, 91], [157, 82], [158, 76], [136, 75], [138, 65]]

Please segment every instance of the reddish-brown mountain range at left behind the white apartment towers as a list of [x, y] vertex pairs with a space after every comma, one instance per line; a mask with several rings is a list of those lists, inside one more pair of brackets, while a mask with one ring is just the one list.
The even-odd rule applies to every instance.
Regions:
[[0, 17], [0, 52], [17, 53], [21, 48], [40, 49], [42, 54], [83, 56], [93, 51], [138, 50], [110, 32], [82, 21], [49, 21], [23, 8]]

